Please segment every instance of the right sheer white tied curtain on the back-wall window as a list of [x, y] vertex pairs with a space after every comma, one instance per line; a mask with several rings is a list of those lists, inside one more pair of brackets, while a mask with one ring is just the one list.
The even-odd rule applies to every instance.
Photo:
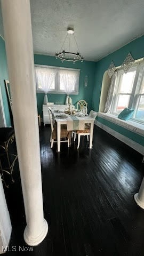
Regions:
[[76, 91], [79, 81], [79, 71], [60, 70], [60, 81], [67, 94], [66, 104], [68, 103], [69, 94]]

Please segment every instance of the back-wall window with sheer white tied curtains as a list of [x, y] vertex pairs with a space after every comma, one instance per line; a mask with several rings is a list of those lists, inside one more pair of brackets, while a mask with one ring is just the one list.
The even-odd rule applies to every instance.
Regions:
[[[54, 79], [51, 81], [49, 86], [50, 93], [59, 93], [59, 94], [78, 94], [79, 87], [79, 69], [69, 69], [69, 68], [60, 68], [60, 67], [51, 67], [51, 66], [40, 66], [36, 65], [35, 69], [42, 68], [41, 75], [43, 76], [52, 76]], [[44, 74], [43, 74], [44, 73]], [[43, 79], [49, 83], [49, 79]], [[36, 76], [36, 89], [37, 92], [44, 92], [44, 87], [42, 85], [42, 79], [38, 79]]]

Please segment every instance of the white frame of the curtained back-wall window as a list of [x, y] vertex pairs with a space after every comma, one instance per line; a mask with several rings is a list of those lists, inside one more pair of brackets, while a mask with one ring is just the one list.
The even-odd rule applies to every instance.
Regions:
[[[80, 71], [81, 69], [75, 69], [75, 68], [63, 68], [63, 67], [55, 67], [55, 66], [45, 66], [45, 65], [35, 65], [35, 67], [43, 67], [43, 68], [51, 68], [51, 69], [56, 69], [57, 74], [55, 75], [55, 89], [50, 90], [50, 94], [66, 94], [65, 90], [60, 90], [60, 76], [59, 76], [59, 70], [71, 70], [71, 71]], [[38, 84], [36, 83], [36, 92], [37, 93], [44, 93], [43, 89], [38, 88]], [[77, 95], [79, 92], [79, 76], [78, 76], [78, 81], [75, 87], [75, 91], [71, 92], [70, 95]]]

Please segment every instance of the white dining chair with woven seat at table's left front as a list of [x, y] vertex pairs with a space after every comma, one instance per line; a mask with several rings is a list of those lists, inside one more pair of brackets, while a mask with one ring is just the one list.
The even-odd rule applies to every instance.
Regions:
[[[54, 121], [54, 115], [52, 113], [52, 110], [49, 108], [49, 116], [50, 116], [50, 122], [51, 122], [51, 148], [53, 147], [53, 143], [57, 142], [57, 124]], [[60, 132], [60, 138], [65, 140], [61, 140], [61, 142], [68, 142], [68, 147], [70, 146], [70, 139], [71, 139], [71, 133], [67, 130], [67, 125], [63, 124], [61, 125], [61, 132]]]

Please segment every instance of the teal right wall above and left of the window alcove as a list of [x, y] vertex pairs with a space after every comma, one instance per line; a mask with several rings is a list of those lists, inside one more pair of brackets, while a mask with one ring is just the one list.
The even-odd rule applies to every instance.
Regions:
[[92, 109], [95, 111], [99, 110], [100, 93], [102, 85], [102, 77], [105, 71], [108, 69], [111, 61], [113, 60], [115, 66], [122, 65], [127, 54], [131, 52], [133, 58], [140, 59], [144, 57], [144, 36], [135, 39], [131, 43], [125, 45], [121, 49], [109, 54], [107, 57], [101, 59], [96, 63], [95, 69], [95, 83], [93, 90]]

